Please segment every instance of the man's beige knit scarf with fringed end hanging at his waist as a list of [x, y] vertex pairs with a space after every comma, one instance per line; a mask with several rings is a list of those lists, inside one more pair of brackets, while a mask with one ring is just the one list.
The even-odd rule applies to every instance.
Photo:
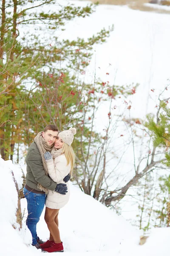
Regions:
[[[40, 151], [41, 158], [42, 158], [42, 164], [43, 164], [43, 167], [44, 167], [44, 170], [45, 170], [45, 174], [48, 175], [48, 168], [47, 168], [47, 163], [46, 163], [45, 158], [44, 158], [44, 153], [46, 151], [51, 152], [53, 146], [48, 146], [48, 144], [46, 143], [46, 141], [42, 137], [42, 131], [40, 131], [37, 134], [37, 136], [34, 138], [34, 141], [35, 141], [35, 143], [36, 143], [36, 145], [37, 145], [37, 147], [38, 147], [38, 149]], [[45, 194], [47, 194], [48, 189], [43, 187], [40, 183], [38, 183], [37, 187], [41, 191], [44, 191]]]

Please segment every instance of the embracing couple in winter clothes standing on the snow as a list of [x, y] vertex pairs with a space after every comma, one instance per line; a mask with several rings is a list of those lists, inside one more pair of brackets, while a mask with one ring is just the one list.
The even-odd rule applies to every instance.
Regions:
[[[74, 151], [71, 147], [76, 128], [58, 133], [56, 125], [47, 125], [37, 134], [26, 156], [26, 185], [23, 193], [27, 200], [26, 224], [32, 235], [32, 245], [46, 252], [63, 252], [59, 235], [59, 209], [68, 203], [68, 180], [74, 167]], [[50, 237], [43, 242], [37, 236], [37, 223], [45, 208], [45, 222]]]

